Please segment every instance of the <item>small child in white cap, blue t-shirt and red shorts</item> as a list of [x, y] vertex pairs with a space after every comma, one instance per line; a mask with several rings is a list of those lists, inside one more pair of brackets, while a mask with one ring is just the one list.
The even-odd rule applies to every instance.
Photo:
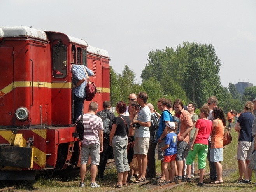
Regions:
[[[169, 132], [166, 135], [165, 147], [162, 147], [161, 150], [165, 150], [165, 155], [163, 159], [163, 170], [165, 173], [165, 182], [164, 184], [174, 182], [175, 177], [175, 159], [177, 155], [177, 134], [174, 132], [177, 129], [177, 124], [175, 122], [167, 123], [167, 131]], [[171, 166], [171, 174], [169, 175], [168, 164]]]

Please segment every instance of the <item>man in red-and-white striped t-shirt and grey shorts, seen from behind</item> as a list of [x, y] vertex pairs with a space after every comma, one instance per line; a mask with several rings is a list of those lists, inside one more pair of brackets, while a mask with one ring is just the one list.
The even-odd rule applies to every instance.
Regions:
[[[104, 128], [102, 119], [95, 115], [97, 109], [98, 104], [91, 102], [89, 112], [83, 115], [84, 139], [82, 140], [81, 150], [80, 187], [84, 187], [86, 165], [88, 164], [89, 156], [91, 156], [91, 187], [100, 187], [100, 185], [95, 182], [95, 178], [97, 165], [99, 165], [100, 162], [100, 153], [103, 151]], [[78, 117], [78, 119], [80, 119], [80, 117]]]

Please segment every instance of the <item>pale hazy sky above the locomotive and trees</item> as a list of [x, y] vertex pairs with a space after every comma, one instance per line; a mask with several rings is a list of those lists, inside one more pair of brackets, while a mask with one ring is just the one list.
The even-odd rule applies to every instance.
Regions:
[[[136, 82], [147, 54], [183, 42], [212, 44], [222, 66], [221, 83], [256, 85], [255, 0], [8, 0], [0, 26], [33, 26], [82, 38], [105, 49], [121, 73], [128, 65]], [[173, 75], [173, 74], [170, 74]]]

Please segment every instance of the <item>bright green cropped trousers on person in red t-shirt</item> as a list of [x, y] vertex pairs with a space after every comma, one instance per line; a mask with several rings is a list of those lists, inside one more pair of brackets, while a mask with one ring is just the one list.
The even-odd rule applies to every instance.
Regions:
[[205, 144], [195, 144], [193, 151], [189, 150], [188, 156], [186, 158], [186, 164], [191, 165], [194, 161], [196, 154], [198, 157], [198, 169], [205, 169], [206, 157], [207, 157], [208, 145]]

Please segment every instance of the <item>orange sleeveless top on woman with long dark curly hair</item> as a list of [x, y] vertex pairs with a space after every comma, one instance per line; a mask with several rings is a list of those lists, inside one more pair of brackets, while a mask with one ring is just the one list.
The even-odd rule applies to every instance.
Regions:
[[212, 147], [211, 148], [223, 148], [222, 139], [224, 134], [224, 125], [220, 119], [215, 119], [215, 120], [217, 120], [218, 124], [215, 127], [212, 126], [212, 133], [211, 133]]

